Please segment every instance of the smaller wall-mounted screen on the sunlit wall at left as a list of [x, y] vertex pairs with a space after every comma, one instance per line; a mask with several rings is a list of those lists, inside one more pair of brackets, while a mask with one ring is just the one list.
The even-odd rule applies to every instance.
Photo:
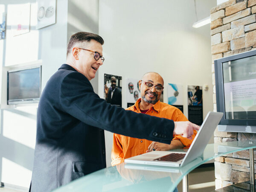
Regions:
[[7, 104], [37, 103], [41, 96], [41, 66], [7, 72]]

